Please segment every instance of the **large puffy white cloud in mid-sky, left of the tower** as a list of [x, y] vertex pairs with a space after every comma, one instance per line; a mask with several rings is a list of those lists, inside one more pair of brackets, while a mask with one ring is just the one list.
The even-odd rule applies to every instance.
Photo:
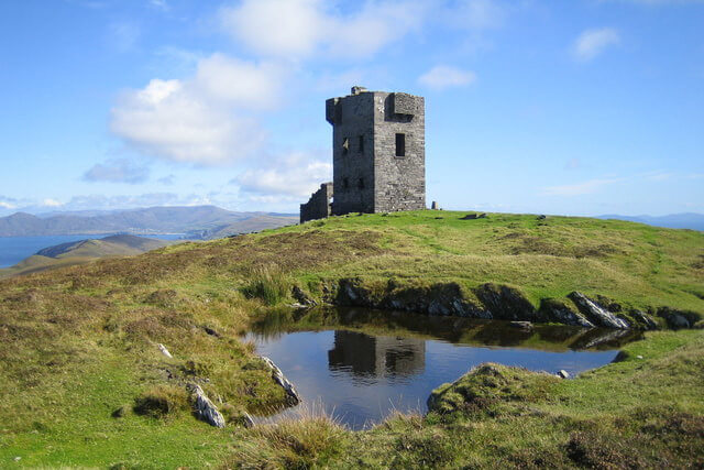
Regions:
[[153, 79], [128, 90], [111, 110], [113, 133], [147, 155], [224, 165], [246, 157], [265, 140], [252, 109], [272, 108], [284, 72], [221, 54], [199, 61], [187, 80]]

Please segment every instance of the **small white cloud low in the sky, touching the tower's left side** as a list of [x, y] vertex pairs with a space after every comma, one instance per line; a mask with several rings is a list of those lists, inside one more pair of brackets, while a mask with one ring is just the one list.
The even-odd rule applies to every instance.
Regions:
[[310, 196], [321, 183], [331, 179], [331, 163], [305, 153], [293, 153], [265, 168], [245, 171], [231, 183], [239, 185], [243, 193], [273, 201], [280, 196]]

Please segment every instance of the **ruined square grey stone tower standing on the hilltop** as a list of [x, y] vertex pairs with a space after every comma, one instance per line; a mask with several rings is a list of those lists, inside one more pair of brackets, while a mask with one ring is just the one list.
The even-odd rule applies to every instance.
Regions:
[[[332, 124], [333, 183], [300, 207], [300, 221], [349, 212], [426, 208], [426, 116], [422, 97], [367, 91], [326, 101]], [[332, 195], [332, 204], [320, 204]]]

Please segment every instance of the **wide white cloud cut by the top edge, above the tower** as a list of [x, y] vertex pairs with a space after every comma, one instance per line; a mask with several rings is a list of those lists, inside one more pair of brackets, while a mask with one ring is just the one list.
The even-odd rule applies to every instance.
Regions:
[[270, 56], [299, 58], [316, 52], [365, 56], [418, 28], [430, 7], [420, 0], [367, 1], [342, 14], [324, 0], [244, 0], [221, 10], [226, 30]]

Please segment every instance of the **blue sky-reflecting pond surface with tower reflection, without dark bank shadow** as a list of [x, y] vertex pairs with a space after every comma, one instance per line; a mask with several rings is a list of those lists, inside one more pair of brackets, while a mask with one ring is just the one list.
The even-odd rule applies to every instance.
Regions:
[[353, 429], [377, 423], [393, 409], [425, 413], [433, 389], [483, 362], [547, 372], [564, 369], [575, 374], [604, 365], [617, 353], [472, 347], [344, 330], [251, 338], [256, 340], [257, 352], [271, 358], [300, 393], [304, 405], [297, 408], [318, 404]]

